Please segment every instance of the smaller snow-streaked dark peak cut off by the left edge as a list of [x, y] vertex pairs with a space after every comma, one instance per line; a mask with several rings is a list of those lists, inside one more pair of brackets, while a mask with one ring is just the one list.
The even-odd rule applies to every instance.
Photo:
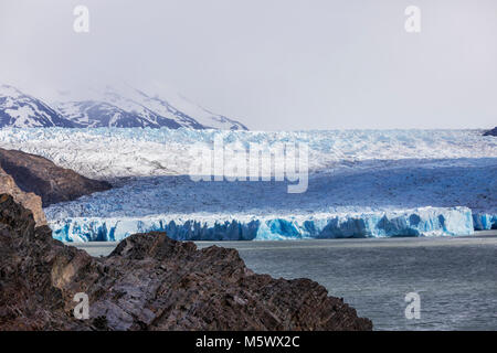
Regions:
[[19, 89], [0, 85], [0, 128], [64, 127], [73, 128], [74, 122], [64, 119], [61, 114], [42, 100], [23, 94]]

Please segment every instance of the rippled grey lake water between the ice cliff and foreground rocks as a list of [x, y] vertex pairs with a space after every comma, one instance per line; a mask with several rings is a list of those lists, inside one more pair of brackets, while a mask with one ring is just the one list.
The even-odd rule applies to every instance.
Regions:
[[[107, 255], [115, 243], [77, 244]], [[376, 330], [497, 330], [497, 236], [295, 242], [198, 242], [236, 248], [247, 267], [273, 277], [307, 277], [342, 297]], [[421, 318], [408, 320], [417, 292]]]

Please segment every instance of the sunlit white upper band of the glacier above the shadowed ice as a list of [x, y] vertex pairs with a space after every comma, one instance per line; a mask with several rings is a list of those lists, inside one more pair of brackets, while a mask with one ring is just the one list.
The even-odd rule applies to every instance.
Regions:
[[[484, 130], [229, 131], [151, 128], [3, 128], [0, 146], [43, 156], [93, 179], [187, 175], [189, 147], [222, 137], [228, 147], [309, 146], [311, 172], [417, 165], [470, 165], [497, 158], [497, 139]], [[360, 163], [360, 164], [359, 164]]]

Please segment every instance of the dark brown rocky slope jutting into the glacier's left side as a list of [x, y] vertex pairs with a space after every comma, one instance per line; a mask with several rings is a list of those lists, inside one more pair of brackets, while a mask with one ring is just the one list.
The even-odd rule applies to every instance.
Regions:
[[112, 188], [105, 181], [82, 176], [43, 157], [15, 150], [0, 148], [0, 167], [13, 178], [22, 191], [41, 196], [43, 207]]

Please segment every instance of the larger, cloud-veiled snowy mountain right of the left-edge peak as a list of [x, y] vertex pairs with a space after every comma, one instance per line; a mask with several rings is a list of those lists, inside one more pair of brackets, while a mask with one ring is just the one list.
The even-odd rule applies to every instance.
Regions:
[[247, 130], [242, 124], [212, 114], [163, 87], [154, 94], [126, 84], [91, 88], [82, 93], [83, 99], [74, 100], [76, 98], [73, 97], [67, 100], [61, 96], [54, 106], [81, 127]]

